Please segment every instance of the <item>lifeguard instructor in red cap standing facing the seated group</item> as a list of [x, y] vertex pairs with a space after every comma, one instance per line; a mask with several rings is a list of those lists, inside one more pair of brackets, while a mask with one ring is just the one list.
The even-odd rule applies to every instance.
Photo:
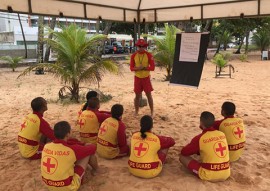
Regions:
[[145, 48], [148, 44], [144, 39], [139, 39], [135, 46], [138, 50], [131, 55], [130, 58], [130, 70], [135, 72], [134, 76], [134, 107], [135, 114], [139, 112], [139, 103], [142, 96], [142, 91], [145, 92], [149, 107], [151, 109], [151, 115], [154, 113], [154, 104], [151, 92], [153, 87], [150, 81], [150, 71], [155, 70], [154, 58], [151, 53], [147, 52]]

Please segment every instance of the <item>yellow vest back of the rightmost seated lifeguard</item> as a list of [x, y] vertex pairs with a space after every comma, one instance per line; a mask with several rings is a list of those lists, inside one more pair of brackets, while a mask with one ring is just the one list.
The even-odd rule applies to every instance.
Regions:
[[224, 119], [219, 126], [219, 130], [226, 135], [230, 161], [237, 161], [244, 151], [246, 142], [243, 120], [236, 117]]

